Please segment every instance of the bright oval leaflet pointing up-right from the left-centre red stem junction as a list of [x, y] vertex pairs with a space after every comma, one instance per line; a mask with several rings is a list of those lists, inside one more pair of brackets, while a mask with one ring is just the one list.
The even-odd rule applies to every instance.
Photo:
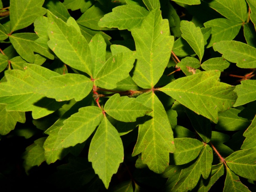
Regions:
[[116, 88], [117, 82], [129, 77], [134, 61], [135, 57], [132, 51], [113, 55], [97, 72], [95, 85], [105, 89]]

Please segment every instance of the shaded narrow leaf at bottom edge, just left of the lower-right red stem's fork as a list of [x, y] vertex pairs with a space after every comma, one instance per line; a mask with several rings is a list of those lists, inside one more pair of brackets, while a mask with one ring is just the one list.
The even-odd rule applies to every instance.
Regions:
[[200, 182], [198, 182], [198, 192], [209, 191], [212, 185], [224, 174], [224, 166], [223, 163], [212, 166], [212, 171], [207, 180], [201, 178]]

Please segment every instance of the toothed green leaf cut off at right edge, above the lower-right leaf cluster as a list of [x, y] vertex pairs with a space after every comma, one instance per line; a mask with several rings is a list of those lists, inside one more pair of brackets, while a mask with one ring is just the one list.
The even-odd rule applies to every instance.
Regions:
[[241, 149], [250, 149], [256, 146], [256, 116], [254, 117], [252, 124], [247, 128], [243, 135], [246, 137], [246, 139], [244, 140]]

